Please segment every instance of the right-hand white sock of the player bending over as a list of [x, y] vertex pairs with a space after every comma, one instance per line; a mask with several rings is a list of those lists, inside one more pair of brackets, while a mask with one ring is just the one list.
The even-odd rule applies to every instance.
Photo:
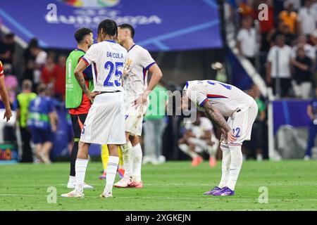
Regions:
[[243, 157], [241, 146], [229, 146], [231, 153], [230, 162], [230, 172], [228, 180], [228, 188], [232, 191], [235, 190], [235, 184], [237, 183], [237, 178], [240, 174], [240, 169], [242, 167]]

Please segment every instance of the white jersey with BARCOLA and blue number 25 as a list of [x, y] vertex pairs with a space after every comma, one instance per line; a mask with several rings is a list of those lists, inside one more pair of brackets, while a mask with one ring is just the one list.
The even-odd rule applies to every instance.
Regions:
[[93, 44], [82, 60], [92, 64], [94, 91], [123, 91], [120, 77], [127, 57], [127, 50], [116, 41]]

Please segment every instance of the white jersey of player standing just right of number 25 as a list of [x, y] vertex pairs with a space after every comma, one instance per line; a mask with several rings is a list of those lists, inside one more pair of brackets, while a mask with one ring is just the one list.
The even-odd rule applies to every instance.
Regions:
[[123, 88], [128, 98], [135, 99], [147, 89], [147, 73], [155, 60], [147, 49], [137, 44], [128, 50], [127, 58], [130, 58], [132, 63], [130, 72], [123, 79]]

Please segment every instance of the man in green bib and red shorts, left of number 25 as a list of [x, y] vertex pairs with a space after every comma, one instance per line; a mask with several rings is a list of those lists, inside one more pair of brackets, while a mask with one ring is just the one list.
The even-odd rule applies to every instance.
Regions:
[[[74, 131], [74, 145], [70, 153], [70, 176], [67, 188], [75, 188], [75, 162], [78, 152], [78, 141], [82, 132], [83, 124], [85, 123], [88, 111], [92, 103], [89, 98], [83, 93], [80, 84], [78, 84], [74, 70], [86, 51], [94, 44], [94, 34], [89, 28], [81, 28], [75, 32], [77, 48], [73, 50], [66, 60], [66, 108], [69, 109], [70, 117]], [[92, 66], [86, 68], [83, 73], [86, 85], [89, 90], [94, 89], [92, 81]], [[84, 188], [93, 188], [88, 184], [84, 184]]]

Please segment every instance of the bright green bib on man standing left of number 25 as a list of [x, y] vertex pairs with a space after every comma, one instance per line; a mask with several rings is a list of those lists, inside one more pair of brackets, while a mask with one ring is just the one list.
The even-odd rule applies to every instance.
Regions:
[[[82, 88], [75, 78], [74, 71], [78, 60], [85, 56], [85, 52], [75, 49], [66, 60], [66, 108], [77, 108], [82, 103]], [[89, 80], [89, 90], [94, 89], [94, 82]]]

